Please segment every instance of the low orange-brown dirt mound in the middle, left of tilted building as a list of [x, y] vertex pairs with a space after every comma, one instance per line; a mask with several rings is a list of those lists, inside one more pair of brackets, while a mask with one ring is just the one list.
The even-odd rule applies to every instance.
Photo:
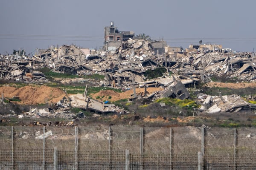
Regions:
[[[162, 91], [162, 90], [163, 88], [147, 88], [148, 94], [151, 94], [157, 91]], [[145, 91], [144, 88], [136, 88], [137, 96], [144, 95], [144, 91]], [[122, 93], [117, 93], [116, 91], [113, 91], [113, 90], [106, 90], [106, 91], [99, 91], [98, 93], [92, 94], [91, 96], [93, 99], [97, 99], [100, 101], [108, 100], [111, 102], [115, 102], [120, 99], [130, 99], [133, 97], [133, 94], [134, 94], [133, 90], [124, 91]]]

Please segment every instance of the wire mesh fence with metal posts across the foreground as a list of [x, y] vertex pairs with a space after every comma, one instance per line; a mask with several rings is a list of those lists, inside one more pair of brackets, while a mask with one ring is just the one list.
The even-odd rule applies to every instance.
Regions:
[[256, 128], [0, 127], [0, 170], [251, 170], [255, 142]]

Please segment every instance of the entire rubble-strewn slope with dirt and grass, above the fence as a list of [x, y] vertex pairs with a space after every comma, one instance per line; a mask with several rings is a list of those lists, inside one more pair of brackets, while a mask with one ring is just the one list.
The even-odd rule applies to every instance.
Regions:
[[253, 54], [156, 55], [150, 43], [1, 55], [0, 125], [256, 125]]

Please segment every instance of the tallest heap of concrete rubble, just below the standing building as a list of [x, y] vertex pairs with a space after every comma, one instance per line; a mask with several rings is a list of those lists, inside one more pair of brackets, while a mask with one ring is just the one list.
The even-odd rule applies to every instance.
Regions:
[[[162, 66], [157, 62], [154, 50], [148, 40], [132, 40], [122, 42], [113, 55], [110, 69], [107, 70], [105, 80], [111, 86], [131, 88], [132, 85], [143, 82], [147, 77], [145, 71], [154, 70]], [[117, 83], [115, 83], [117, 82]]]

